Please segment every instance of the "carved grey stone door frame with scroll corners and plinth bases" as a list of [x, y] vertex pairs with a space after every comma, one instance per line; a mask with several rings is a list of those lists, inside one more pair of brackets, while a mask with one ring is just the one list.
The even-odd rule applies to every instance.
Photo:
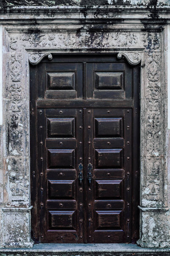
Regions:
[[[47, 31], [48, 29], [48, 31]], [[101, 30], [101, 29], [100, 29]], [[132, 64], [141, 61], [141, 203], [142, 247], [170, 246], [167, 203], [166, 84], [164, 83], [164, 30], [107, 29], [61, 33], [5, 29], [3, 38], [3, 187], [1, 246], [32, 247], [30, 236], [29, 62], [37, 64], [54, 53], [117, 53]], [[31, 110], [34, 114], [34, 109]], [[136, 173], [136, 175], [138, 175]], [[12, 227], [12, 228], [11, 228]], [[148, 231], [149, 230], [149, 231]]]

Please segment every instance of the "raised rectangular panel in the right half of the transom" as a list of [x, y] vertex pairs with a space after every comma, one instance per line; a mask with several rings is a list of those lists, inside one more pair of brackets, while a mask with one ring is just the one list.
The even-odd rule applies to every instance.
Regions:
[[113, 71], [95, 71], [95, 89], [124, 90], [124, 73]]

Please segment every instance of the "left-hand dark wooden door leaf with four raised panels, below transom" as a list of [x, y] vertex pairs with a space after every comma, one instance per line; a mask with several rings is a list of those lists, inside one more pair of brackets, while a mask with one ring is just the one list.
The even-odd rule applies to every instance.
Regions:
[[83, 230], [77, 222], [83, 215], [77, 179], [77, 166], [82, 157], [82, 145], [77, 143], [82, 141], [79, 129], [82, 113], [78, 109], [48, 108], [38, 109], [37, 117], [40, 130], [37, 145], [41, 148], [38, 167], [42, 177], [39, 180], [40, 222], [47, 221], [46, 230], [40, 226], [41, 241], [78, 242]]

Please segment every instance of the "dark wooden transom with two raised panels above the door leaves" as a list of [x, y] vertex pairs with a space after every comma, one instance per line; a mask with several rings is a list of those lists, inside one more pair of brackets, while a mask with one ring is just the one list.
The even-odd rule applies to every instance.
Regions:
[[[132, 99], [132, 72], [126, 62], [57, 57], [38, 65], [37, 99]], [[126, 72], [125, 72], [126, 70]]]

